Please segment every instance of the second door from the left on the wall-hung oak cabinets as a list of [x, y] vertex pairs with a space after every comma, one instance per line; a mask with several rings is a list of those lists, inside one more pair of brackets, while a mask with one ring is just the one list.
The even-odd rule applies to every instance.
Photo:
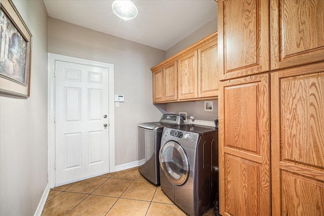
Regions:
[[178, 99], [177, 82], [177, 61], [171, 62], [164, 67], [165, 101], [175, 101]]

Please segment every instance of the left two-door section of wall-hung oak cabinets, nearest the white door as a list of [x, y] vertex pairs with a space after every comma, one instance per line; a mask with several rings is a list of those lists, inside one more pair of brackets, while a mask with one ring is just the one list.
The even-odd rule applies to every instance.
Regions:
[[163, 67], [153, 70], [153, 103], [176, 101], [177, 61], [171, 61]]

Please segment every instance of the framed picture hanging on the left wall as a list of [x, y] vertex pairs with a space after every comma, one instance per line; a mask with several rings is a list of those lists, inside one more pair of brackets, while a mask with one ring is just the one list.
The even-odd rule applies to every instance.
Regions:
[[32, 35], [11, 0], [1, 0], [0, 93], [30, 97]]

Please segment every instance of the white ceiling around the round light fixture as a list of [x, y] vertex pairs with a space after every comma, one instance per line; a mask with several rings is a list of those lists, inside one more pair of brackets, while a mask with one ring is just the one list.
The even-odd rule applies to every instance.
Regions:
[[44, 0], [50, 17], [168, 50], [217, 17], [214, 0], [132, 0], [133, 20], [117, 17], [112, 0]]

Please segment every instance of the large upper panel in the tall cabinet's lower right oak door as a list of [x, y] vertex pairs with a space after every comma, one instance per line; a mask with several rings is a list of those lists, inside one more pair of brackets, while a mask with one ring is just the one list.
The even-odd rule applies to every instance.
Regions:
[[281, 78], [280, 113], [281, 159], [324, 167], [324, 73]]

